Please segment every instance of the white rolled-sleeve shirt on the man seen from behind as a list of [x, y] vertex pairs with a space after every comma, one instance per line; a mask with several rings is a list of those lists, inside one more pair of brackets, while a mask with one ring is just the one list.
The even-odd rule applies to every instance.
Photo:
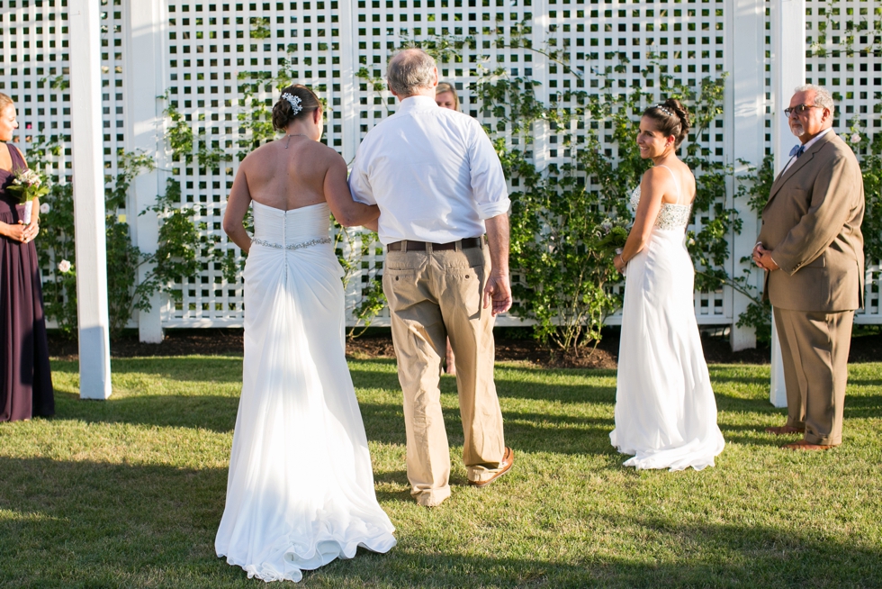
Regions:
[[500, 159], [477, 121], [410, 96], [372, 129], [349, 175], [353, 198], [380, 205], [383, 244], [483, 235], [484, 219], [509, 211]]

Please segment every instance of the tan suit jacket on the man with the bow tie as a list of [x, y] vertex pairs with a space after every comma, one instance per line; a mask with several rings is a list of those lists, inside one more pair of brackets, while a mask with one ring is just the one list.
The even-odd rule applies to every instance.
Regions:
[[836, 313], [863, 305], [864, 183], [851, 148], [833, 131], [772, 185], [760, 238], [780, 270], [763, 298], [779, 309]]

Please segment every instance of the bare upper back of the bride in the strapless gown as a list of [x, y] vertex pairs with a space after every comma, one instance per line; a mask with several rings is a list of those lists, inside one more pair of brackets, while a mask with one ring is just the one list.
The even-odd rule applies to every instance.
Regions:
[[330, 155], [337, 153], [300, 135], [257, 148], [242, 162], [251, 199], [283, 211], [325, 202]]

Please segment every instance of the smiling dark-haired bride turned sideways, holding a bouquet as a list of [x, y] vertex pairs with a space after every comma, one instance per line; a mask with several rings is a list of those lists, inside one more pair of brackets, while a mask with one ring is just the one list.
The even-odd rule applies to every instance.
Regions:
[[723, 451], [693, 306], [695, 270], [686, 227], [695, 178], [677, 158], [689, 132], [682, 104], [644, 113], [637, 144], [653, 159], [632, 196], [634, 226], [617, 254], [627, 270], [618, 355], [616, 429], [609, 438], [626, 467], [701, 470]]

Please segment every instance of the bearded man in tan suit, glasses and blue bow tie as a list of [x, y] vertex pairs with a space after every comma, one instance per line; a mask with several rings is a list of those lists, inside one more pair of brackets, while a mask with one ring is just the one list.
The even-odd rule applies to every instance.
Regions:
[[753, 249], [766, 270], [788, 396], [787, 423], [767, 431], [805, 433], [788, 449], [830, 449], [842, 443], [851, 323], [863, 304], [863, 177], [831, 129], [833, 97], [823, 87], [798, 87], [785, 113], [802, 145], [772, 185]]

